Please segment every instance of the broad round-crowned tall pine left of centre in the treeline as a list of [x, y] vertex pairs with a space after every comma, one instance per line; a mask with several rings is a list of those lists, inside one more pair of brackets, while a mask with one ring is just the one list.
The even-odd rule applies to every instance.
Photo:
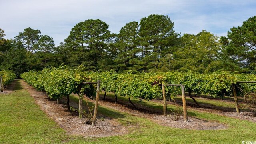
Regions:
[[104, 62], [103, 56], [106, 56], [106, 49], [113, 36], [108, 30], [108, 24], [99, 19], [79, 22], [65, 40], [71, 51], [68, 64], [83, 64], [88, 70], [97, 69], [98, 62]]

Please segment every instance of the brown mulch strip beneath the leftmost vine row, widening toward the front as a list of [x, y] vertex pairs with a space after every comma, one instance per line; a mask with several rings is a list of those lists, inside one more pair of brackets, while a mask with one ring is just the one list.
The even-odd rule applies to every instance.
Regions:
[[[80, 120], [78, 116], [73, 116], [66, 106], [66, 104], [56, 104], [56, 101], [50, 100], [45, 94], [35, 90], [32, 86], [29, 86], [21, 80], [22, 88], [28, 90], [30, 95], [35, 99], [36, 104], [61, 128], [66, 130], [68, 134], [82, 135], [85, 137], [103, 137], [113, 136], [120, 134], [127, 134], [128, 128], [122, 126], [114, 119], [98, 114], [98, 118], [103, 117], [104, 121], [97, 120], [96, 126], [84, 124], [85, 120]], [[75, 105], [74, 103], [70, 103]]]

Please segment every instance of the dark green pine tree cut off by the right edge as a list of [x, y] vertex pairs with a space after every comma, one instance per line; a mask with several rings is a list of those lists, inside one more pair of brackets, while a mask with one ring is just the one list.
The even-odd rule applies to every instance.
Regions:
[[227, 42], [227, 56], [240, 67], [256, 71], [256, 16], [248, 18], [242, 26], [231, 28]]

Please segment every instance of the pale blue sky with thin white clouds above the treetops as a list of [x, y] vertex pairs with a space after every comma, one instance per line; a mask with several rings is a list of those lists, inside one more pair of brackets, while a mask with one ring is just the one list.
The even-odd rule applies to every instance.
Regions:
[[25, 28], [63, 42], [78, 22], [100, 19], [118, 33], [150, 14], [168, 15], [178, 33], [207, 30], [226, 36], [233, 26], [256, 15], [256, 0], [0, 0], [0, 28], [14, 38]]

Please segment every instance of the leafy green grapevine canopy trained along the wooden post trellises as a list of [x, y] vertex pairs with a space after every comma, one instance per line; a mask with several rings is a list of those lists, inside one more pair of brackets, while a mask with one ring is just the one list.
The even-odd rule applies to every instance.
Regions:
[[[46, 91], [53, 99], [72, 93], [81, 92], [91, 97], [95, 93], [92, 85], [82, 85], [82, 82], [100, 80], [101, 90], [114, 92], [120, 96], [128, 96], [140, 100], [162, 98], [162, 84], [183, 84], [186, 92], [196, 94], [211, 94], [214, 96], [232, 96], [232, 84], [238, 81], [256, 81], [255, 74], [236, 74], [219, 71], [210, 74], [196, 72], [159, 72], [118, 74], [109, 72], [88, 72], [82, 66], [71, 69], [68, 66], [60, 68], [45, 68], [42, 71], [29, 71], [21, 77], [37, 90]], [[237, 84], [237, 93], [256, 92], [256, 84]], [[166, 93], [172, 96], [180, 93], [176, 87], [166, 87]]]

